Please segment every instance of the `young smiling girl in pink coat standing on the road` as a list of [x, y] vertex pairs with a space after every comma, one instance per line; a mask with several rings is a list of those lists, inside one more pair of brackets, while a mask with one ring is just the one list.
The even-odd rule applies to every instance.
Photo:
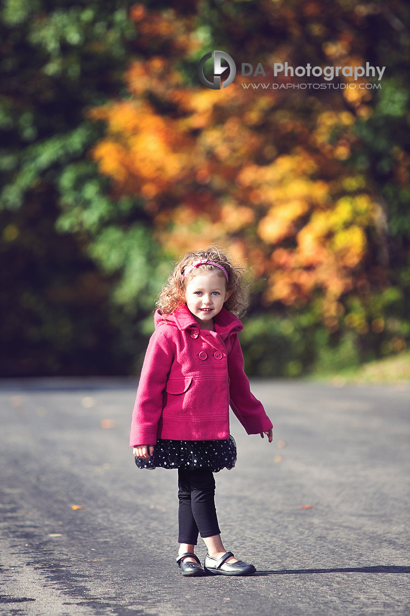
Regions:
[[[213, 473], [235, 466], [229, 405], [247, 434], [272, 424], [249, 389], [233, 314], [244, 307], [241, 268], [220, 249], [187, 253], [164, 285], [143, 362], [130, 445], [138, 468], [177, 468], [182, 575], [250, 575], [222, 545]], [[207, 546], [204, 569], [194, 553]]]

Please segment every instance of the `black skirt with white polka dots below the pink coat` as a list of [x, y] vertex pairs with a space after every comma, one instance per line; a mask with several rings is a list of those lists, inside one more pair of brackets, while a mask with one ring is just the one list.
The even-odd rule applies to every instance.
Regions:
[[222, 440], [158, 439], [150, 460], [135, 457], [138, 468], [189, 468], [230, 470], [236, 463], [236, 443], [230, 436]]

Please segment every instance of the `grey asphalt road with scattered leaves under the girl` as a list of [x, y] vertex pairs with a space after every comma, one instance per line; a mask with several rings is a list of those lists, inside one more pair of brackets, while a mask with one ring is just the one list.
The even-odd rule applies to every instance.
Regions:
[[410, 613], [410, 386], [252, 382], [273, 443], [233, 418], [238, 462], [215, 475], [225, 547], [257, 567], [244, 578], [177, 572], [177, 474], [135, 466], [135, 391], [0, 382], [0, 612]]

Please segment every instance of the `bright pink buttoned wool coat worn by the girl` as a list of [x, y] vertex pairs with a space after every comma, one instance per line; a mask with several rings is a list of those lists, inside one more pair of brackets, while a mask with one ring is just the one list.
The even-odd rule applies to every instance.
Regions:
[[201, 330], [186, 304], [155, 312], [155, 331], [142, 366], [132, 413], [130, 445], [229, 437], [229, 405], [246, 429], [272, 428], [244, 373], [239, 318], [222, 308], [215, 331]]

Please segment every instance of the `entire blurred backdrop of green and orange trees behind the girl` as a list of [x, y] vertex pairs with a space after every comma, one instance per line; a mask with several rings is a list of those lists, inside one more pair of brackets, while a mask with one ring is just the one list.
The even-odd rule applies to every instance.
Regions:
[[[249, 374], [404, 351], [409, 13], [402, 1], [6, 2], [4, 373], [135, 373], [170, 261], [211, 241], [256, 278]], [[197, 76], [213, 49], [238, 68], [221, 91]], [[327, 82], [275, 78], [285, 61], [386, 68], [363, 89], [341, 76], [301, 90], [289, 85]], [[242, 77], [242, 62], [266, 76]]]

